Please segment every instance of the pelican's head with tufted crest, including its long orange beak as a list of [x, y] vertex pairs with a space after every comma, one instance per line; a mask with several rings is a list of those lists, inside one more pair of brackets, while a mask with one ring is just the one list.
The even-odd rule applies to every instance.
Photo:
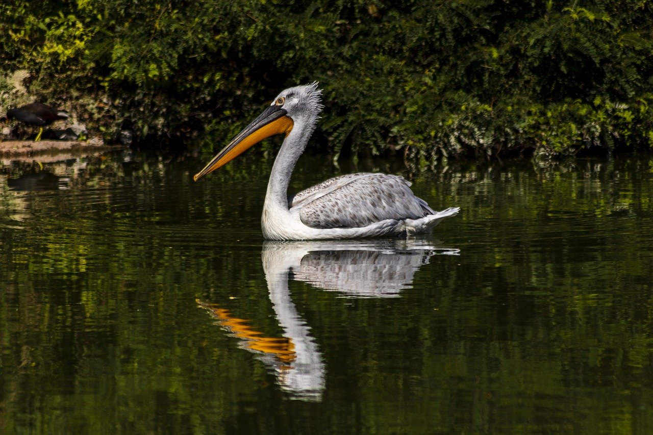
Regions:
[[281, 134], [288, 137], [295, 123], [308, 127], [312, 132], [315, 129], [317, 115], [323, 108], [320, 103], [321, 95], [322, 90], [317, 88], [317, 82], [306, 86], [295, 86], [279, 93], [258, 118], [238, 133], [204, 169], [195, 174], [194, 180], [197, 181], [209, 172], [227, 164], [264, 138]]

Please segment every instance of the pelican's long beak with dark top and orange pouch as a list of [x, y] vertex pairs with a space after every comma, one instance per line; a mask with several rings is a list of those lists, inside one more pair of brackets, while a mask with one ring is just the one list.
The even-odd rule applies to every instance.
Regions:
[[229, 161], [238, 157], [238, 155], [245, 152], [251, 146], [261, 142], [264, 138], [272, 135], [279, 135], [285, 133], [289, 135], [293, 129], [293, 120], [286, 116], [286, 110], [281, 106], [268, 106], [258, 118], [253, 120], [251, 124], [247, 125], [243, 131], [229, 142], [221, 152], [217, 153], [215, 157], [200, 170], [193, 180], [197, 181], [209, 172], [213, 172], [219, 167], [225, 165]]

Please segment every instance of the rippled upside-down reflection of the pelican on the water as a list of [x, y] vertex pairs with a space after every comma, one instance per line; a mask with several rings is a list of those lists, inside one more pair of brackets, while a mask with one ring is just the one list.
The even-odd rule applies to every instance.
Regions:
[[411, 288], [413, 275], [436, 254], [458, 255], [419, 240], [266, 241], [261, 259], [270, 301], [282, 338], [266, 337], [223, 306], [198, 300], [217, 323], [240, 340], [274, 372], [291, 398], [321, 400], [325, 364], [289, 291], [289, 280], [338, 291], [342, 297], [398, 297]]

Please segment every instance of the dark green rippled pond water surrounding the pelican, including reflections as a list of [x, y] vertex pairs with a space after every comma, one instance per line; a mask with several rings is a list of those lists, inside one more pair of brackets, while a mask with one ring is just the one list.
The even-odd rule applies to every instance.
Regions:
[[263, 242], [269, 161], [204, 163], [5, 162], [0, 433], [653, 428], [650, 156], [439, 167], [434, 234], [312, 244]]

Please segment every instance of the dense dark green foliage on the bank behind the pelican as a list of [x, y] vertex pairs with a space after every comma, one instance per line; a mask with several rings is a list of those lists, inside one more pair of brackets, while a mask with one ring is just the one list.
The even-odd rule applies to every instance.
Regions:
[[[210, 150], [279, 90], [319, 80], [317, 139], [336, 158], [653, 144], [646, 0], [10, 0], [0, 13], [3, 70], [29, 71], [29, 99], [67, 104], [106, 140]], [[0, 104], [20, 98], [0, 83]]]

